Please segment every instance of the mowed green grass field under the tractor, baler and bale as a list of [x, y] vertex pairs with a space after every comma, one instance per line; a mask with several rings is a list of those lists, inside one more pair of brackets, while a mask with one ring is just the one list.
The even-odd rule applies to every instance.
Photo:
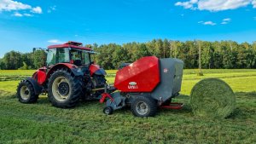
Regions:
[[[159, 110], [154, 118], [136, 118], [129, 108], [107, 116], [98, 101], [73, 109], [52, 107], [47, 96], [37, 104], [15, 98], [21, 78], [34, 71], [0, 71], [0, 143], [256, 143], [256, 70], [184, 70], [181, 110]], [[116, 71], [108, 71], [113, 83]], [[236, 93], [229, 118], [195, 117], [189, 93], [202, 78], [221, 78]]]

